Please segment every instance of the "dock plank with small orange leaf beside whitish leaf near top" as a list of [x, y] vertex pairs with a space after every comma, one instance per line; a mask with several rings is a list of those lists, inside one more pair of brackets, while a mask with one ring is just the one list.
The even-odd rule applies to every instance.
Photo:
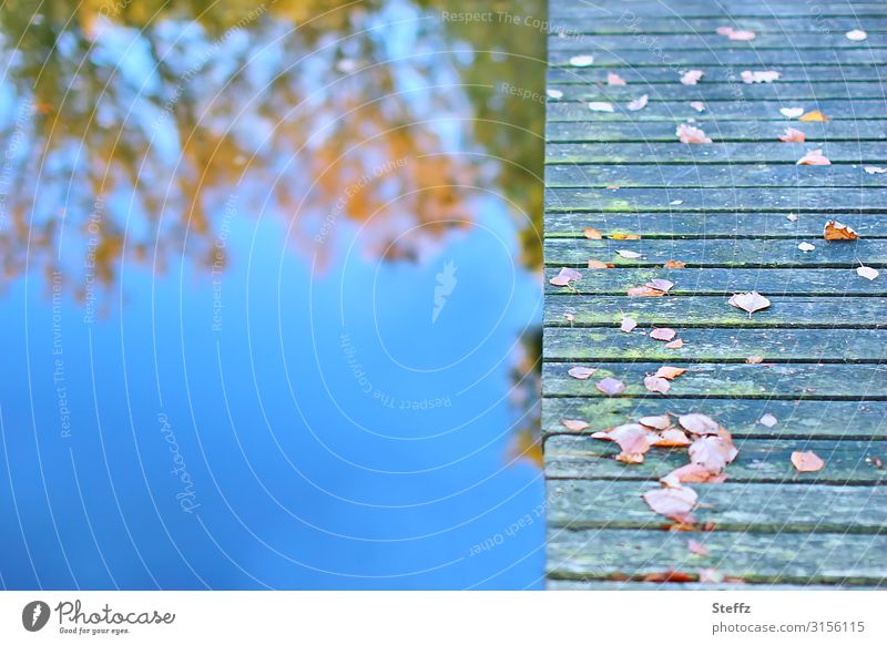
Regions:
[[[643, 92], [639, 92], [639, 96]], [[685, 123], [689, 114], [686, 101], [652, 101], [643, 110], [632, 112], [628, 103], [615, 103], [614, 112], [592, 112], [584, 103], [574, 101], [549, 101], [546, 103], [546, 117], [549, 122], [582, 121], [591, 124], [631, 121], [643, 123], [645, 121], [667, 121]], [[697, 113], [694, 119], [705, 127], [714, 130], [713, 121], [785, 121], [785, 115], [779, 112], [783, 108], [804, 108], [805, 110], [822, 110], [832, 121], [842, 120], [883, 120], [887, 117], [887, 102], [881, 98], [859, 98], [854, 101], [826, 99], [796, 105], [796, 101], [711, 101], [706, 103], [705, 112]], [[762, 125], [763, 127], [763, 125]]]

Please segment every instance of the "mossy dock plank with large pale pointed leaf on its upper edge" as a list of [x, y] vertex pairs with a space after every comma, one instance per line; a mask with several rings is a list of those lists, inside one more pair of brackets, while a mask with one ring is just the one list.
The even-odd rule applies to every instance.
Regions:
[[[753, 290], [754, 284], [742, 291]], [[766, 294], [765, 294], [766, 295]], [[721, 296], [626, 296], [549, 297], [544, 325], [549, 327], [619, 327], [624, 316], [641, 327], [815, 327], [885, 328], [887, 303], [884, 298], [829, 296], [767, 296], [771, 307], [750, 316]], [[572, 320], [568, 320], [567, 315]], [[684, 340], [692, 342], [691, 334]]]

